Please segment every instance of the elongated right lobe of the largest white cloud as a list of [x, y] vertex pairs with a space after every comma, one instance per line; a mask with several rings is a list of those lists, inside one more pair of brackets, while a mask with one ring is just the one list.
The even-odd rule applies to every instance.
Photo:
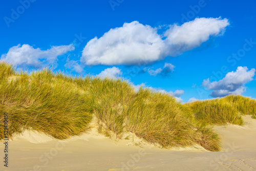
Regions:
[[224, 18], [196, 18], [181, 26], [172, 25], [164, 33], [166, 36], [166, 53], [170, 56], [194, 49], [207, 41], [210, 36], [218, 36], [224, 33], [229, 25], [228, 19]]

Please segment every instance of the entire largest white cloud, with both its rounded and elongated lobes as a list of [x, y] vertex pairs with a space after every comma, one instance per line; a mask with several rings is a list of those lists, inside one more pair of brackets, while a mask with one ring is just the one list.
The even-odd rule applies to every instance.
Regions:
[[80, 61], [91, 66], [146, 65], [199, 47], [210, 36], [224, 33], [228, 25], [226, 18], [196, 18], [181, 26], [171, 25], [160, 35], [157, 28], [137, 21], [124, 23], [100, 38], [91, 39]]

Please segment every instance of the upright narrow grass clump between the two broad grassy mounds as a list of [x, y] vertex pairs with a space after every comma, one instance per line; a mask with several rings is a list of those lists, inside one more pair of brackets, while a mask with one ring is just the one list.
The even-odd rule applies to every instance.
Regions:
[[99, 132], [109, 135], [112, 131], [121, 138], [126, 111], [136, 94], [133, 87], [121, 79], [94, 78], [90, 91], [95, 101], [94, 113], [99, 119]]

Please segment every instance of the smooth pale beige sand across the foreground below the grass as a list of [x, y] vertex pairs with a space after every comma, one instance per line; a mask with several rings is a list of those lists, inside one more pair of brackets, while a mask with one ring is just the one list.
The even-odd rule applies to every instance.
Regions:
[[202, 147], [160, 149], [131, 135], [113, 140], [96, 130], [66, 141], [25, 131], [9, 142], [8, 168], [0, 144], [0, 170], [256, 170], [256, 119], [245, 126], [215, 126], [223, 139], [222, 152]]

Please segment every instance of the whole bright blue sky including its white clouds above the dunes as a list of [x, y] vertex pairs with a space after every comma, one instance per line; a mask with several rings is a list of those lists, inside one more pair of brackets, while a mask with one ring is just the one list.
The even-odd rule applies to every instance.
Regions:
[[183, 102], [256, 98], [253, 1], [22, 0], [0, 8], [1, 60], [19, 68], [123, 77]]

